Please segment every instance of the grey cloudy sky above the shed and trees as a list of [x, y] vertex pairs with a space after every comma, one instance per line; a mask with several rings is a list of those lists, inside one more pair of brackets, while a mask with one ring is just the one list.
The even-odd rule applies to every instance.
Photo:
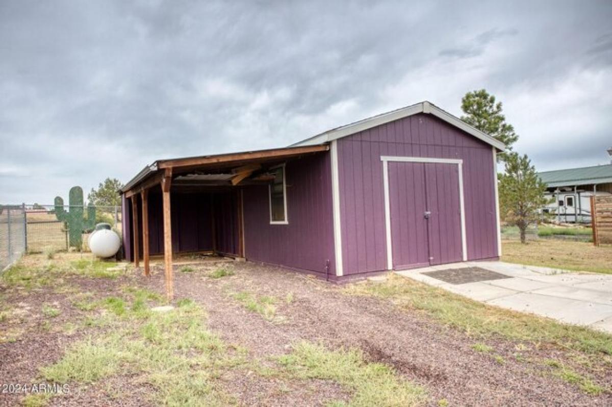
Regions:
[[0, 0], [0, 203], [480, 88], [538, 170], [608, 162], [612, 2], [371, 3]]

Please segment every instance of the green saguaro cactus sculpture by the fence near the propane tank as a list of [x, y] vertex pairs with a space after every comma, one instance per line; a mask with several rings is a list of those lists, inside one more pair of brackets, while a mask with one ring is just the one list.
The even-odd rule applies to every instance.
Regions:
[[64, 210], [64, 200], [61, 196], [55, 197], [55, 216], [58, 220], [67, 223], [70, 247], [78, 250], [83, 248], [83, 232], [95, 226], [95, 206], [87, 207], [87, 218], [83, 218], [83, 189], [72, 187], [68, 198], [68, 212]]

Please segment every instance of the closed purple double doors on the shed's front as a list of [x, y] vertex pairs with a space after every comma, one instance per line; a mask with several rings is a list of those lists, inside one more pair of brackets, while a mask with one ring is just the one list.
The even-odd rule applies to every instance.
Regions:
[[461, 261], [461, 167], [392, 160], [386, 165], [392, 267]]

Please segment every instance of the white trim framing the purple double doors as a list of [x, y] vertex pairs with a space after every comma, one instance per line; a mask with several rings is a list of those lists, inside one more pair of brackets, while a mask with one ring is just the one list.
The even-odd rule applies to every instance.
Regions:
[[465, 203], [463, 198], [463, 160], [439, 159], [431, 157], [398, 157], [392, 155], [381, 155], [383, 162], [383, 189], [384, 189], [384, 222], [387, 248], [387, 269], [393, 269], [393, 250], [391, 241], [391, 203], [389, 199], [389, 162], [411, 162], [411, 163], [442, 163], [457, 165], [459, 176], [459, 207], [461, 211], [461, 258], [468, 260], [468, 248], [465, 233]]

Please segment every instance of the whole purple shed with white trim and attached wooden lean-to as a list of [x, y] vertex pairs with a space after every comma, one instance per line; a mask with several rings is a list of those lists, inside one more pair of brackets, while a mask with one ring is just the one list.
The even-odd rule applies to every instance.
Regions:
[[499, 258], [504, 145], [429, 102], [293, 146], [159, 160], [122, 189], [126, 258], [222, 253], [344, 280]]

